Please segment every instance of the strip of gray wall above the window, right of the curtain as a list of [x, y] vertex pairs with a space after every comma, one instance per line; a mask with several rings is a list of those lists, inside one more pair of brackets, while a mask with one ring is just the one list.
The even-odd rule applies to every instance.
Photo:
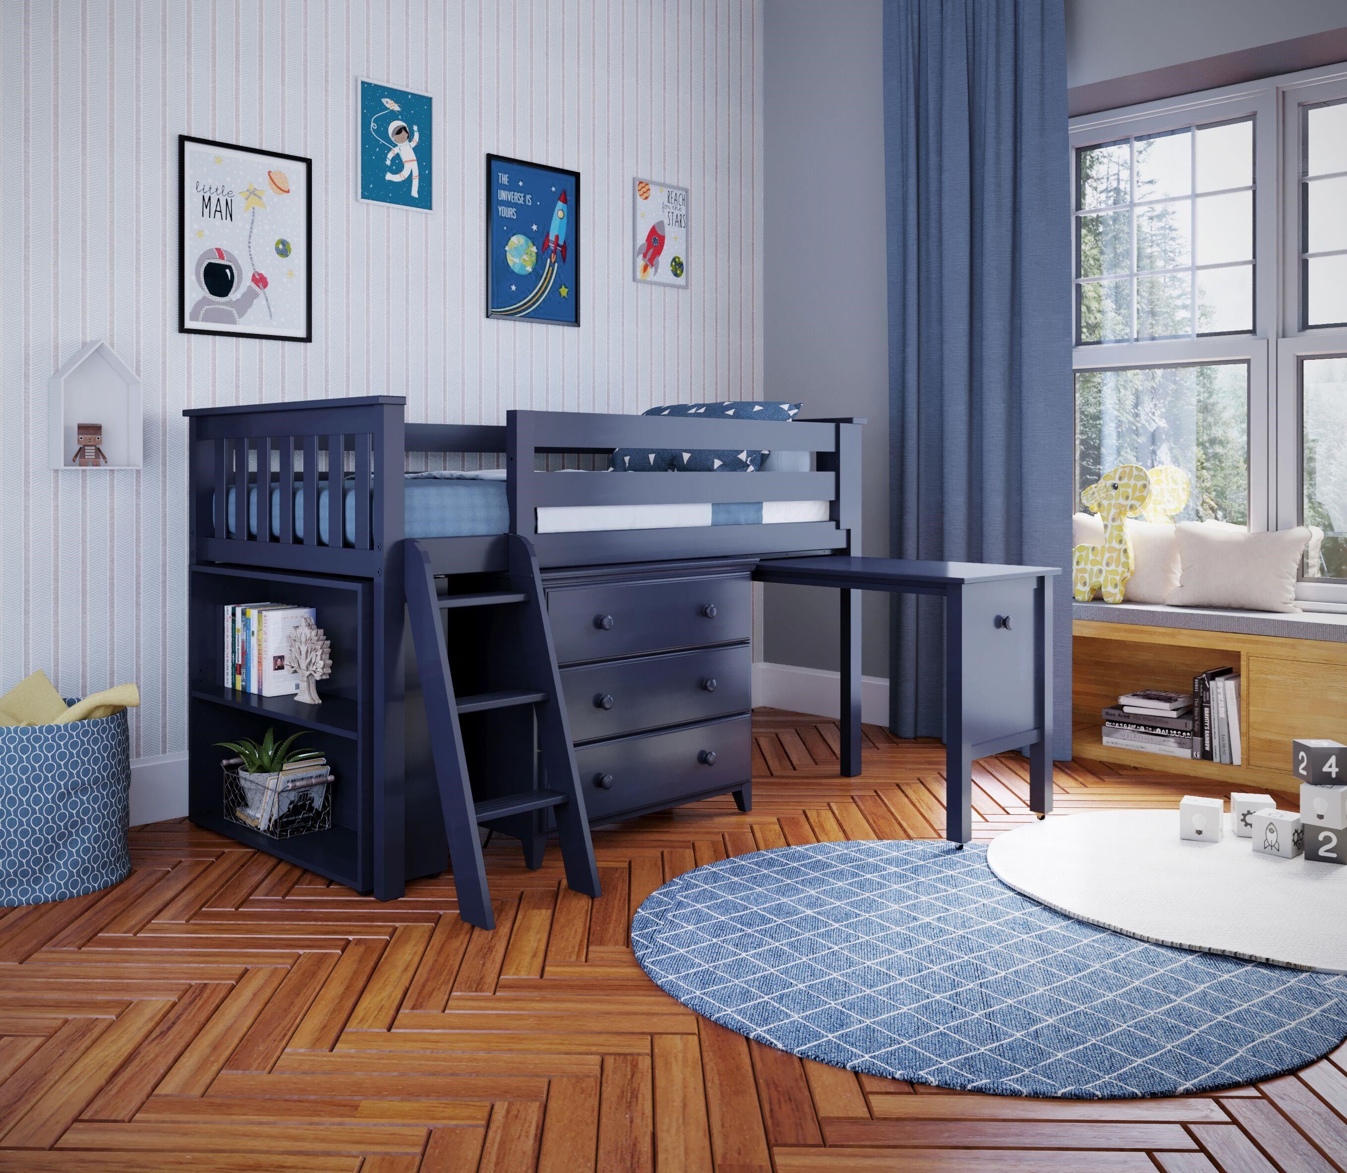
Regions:
[[1067, 77], [1091, 85], [1343, 24], [1344, 0], [1067, 0]]

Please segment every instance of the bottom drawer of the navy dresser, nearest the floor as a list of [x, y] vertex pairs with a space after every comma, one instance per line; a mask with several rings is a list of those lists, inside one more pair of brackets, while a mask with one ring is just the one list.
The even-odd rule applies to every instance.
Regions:
[[748, 716], [575, 750], [591, 823], [629, 811], [676, 807], [707, 791], [731, 791], [750, 780], [750, 757]]

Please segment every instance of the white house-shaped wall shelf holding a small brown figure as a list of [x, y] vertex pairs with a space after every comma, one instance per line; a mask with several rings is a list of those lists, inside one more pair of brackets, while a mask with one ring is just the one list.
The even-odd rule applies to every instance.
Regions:
[[139, 469], [140, 380], [106, 342], [86, 342], [51, 376], [48, 447], [53, 469], [75, 469], [79, 424], [102, 428], [102, 469]]

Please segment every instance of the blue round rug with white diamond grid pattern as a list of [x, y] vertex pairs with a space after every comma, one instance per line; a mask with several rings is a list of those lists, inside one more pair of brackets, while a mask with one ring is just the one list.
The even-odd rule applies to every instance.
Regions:
[[1347, 978], [1154, 945], [1006, 887], [986, 848], [818, 843], [687, 871], [632, 923], [684, 1006], [834, 1067], [1131, 1099], [1296, 1071], [1347, 1037]]

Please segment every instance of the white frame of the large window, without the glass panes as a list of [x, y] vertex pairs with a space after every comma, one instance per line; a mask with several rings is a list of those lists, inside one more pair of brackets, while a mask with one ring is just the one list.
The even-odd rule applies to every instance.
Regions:
[[[1072, 338], [1079, 148], [1234, 119], [1254, 120], [1254, 333], [1072, 349], [1074, 372], [1246, 362], [1249, 528], [1300, 524], [1300, 364], [1347, 356], [1347, 327], [1300, 329], [1300, 106], [1347, 98], [1347, 62], [1071, 120]], [[1347, 580], [1301, 579], [1297, 599], [1347, 607]]]

